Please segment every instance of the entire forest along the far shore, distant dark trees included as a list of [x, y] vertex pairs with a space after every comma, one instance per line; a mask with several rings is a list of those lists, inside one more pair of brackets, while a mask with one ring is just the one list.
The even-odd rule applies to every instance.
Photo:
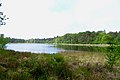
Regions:
[[65, 43], [65, 44], [120, 44], [120, 32], [86, 31], [79, 33], [67, 33], [63, 36], [43, 39], [15, 39], [10, 38], [10, 43]]

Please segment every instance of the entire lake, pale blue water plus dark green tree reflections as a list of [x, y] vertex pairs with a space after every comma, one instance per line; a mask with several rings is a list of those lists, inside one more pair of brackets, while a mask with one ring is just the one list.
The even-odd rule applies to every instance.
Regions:
[[[107, 52], [107, 47], [98, 46], [74, 46], [74, 45], [55, 45], [41, 43], [11, 43], [7, 44], [7, 50], [32, 53], [58, 53], [64, 51], [87, 51], [87, 52]], [[120, 48], [119, 48], [120, 50]]]

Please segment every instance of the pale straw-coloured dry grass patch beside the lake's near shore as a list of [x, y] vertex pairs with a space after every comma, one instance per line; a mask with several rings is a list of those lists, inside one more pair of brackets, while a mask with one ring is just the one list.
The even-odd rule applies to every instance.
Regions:
[[65, 59], [70, 61], [79, 61], [84, 63], [101, 63], [105, 64], [105, 54], [103, 53], [95, 53], [95, 52], [85, 52], [85, 51], [79, 51], [79, 52], [61, 52], [62, 56], [64, 56]]

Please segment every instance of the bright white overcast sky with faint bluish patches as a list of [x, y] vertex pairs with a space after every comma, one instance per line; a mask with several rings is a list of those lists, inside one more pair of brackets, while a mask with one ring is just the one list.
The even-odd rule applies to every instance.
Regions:
[[49, 38], [84, 31], [120, 31], [120, 0], [1, 0], [11, 38]]

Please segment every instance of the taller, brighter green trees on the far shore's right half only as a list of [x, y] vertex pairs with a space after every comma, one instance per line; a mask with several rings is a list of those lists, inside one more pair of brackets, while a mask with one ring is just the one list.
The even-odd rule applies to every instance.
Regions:
[[120, 32], [106, 31], [86, 31], [79, 33], [67, 33], [64, 36], [58, 36], [55, 39], [56, 43], [67, 44], [111, 44], [120, 43]]

